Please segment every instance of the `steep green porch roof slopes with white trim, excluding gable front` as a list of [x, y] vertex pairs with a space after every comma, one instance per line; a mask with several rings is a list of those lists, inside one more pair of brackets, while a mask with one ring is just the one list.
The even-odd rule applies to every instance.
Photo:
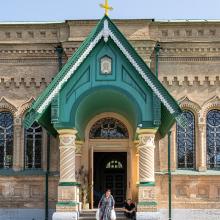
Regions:
[[175, 122], [175, 119], [178, 121], [182, 120], [182, 111], [176, 100], [156, 78], [147, 64], [137, 54], [135, 49], [131, 46], [125, 36], [118, 30], [115, 24], [109, 19], [108, 16], [104, 16], [92, 30], [86, 40], [77, 49], [77, 51], [67, 61], [61, 71], [52, 80], [49, 86], [32, 104], [24, 119], [24, 125], [26, 128], [29, 128], [34, 121], [37, 121], [50, 133], [56, 133], [53, 125], [51, 124], [51, 102], [102, 38], [105, 41], [107, 41], [108, 38], [111, 38], [114, 41], [114, 43], [119, 47], [128, 61], [137, 70], [140, 76], [144, 79], [144, 81], [162, 103], [161, 125], [159, 127], [161, 136], [164, 136], [168, 132], [170, 127]]

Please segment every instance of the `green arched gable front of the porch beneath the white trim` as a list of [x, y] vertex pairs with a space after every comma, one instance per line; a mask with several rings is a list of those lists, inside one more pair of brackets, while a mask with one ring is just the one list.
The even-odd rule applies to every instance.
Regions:
[[[101, 75], [97, 63], [106, 55], [112, 60], [112, 74]], [[52, 112], [56, 112], [52, 114], [55, 128], [74, 127], [83, 138], [88, 121], [102, 112], [123, 115], [134, 130], [137, 124], [155, 127], [153, 94], [138, 76], [111, 40], [101, 41], [61, 90], [59, 105], [52, 105]], [[62, 108], [56, 110], [57, 106]]]

